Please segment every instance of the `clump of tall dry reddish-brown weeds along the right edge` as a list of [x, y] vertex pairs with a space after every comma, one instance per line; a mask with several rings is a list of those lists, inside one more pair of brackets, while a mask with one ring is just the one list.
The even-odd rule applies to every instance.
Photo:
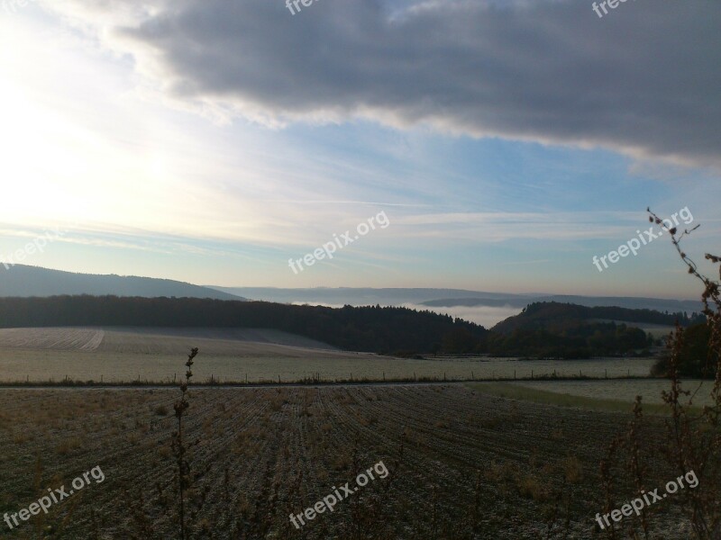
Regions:
[[[649, 221], [662, 225], [662, 220], [653, 211], [648, 210]], [[674, 496], [680, 508], [688, 516], [694, 536], [698, 540], [721, 539], [721, 289], [719, 283], [707, 278], [698, 271], [698, 266], [681, 249], [680, 241], [688, 236], [698, 225], [690, 230], [679, 231], [674, 227], [668, 229], [671, 243], [676, 248], [688, 273], [694, 275], [704, 284], [701, 295], [703, 314], [707, 318], [709, 339], [707, 358], [703, 374], [713, 375], [714, 384], [710, 392], [711, 405], [703, 407], [700, 412], [693, 408], [693, 401], [701, 385], [694, 392], [685, 390], [681, 382], [681, 356], [684, 346], [685, 332], [680, 326], [671, 332], [666, 347], [669, 350], [668, 377], [671, 388], [662, 392], [662, 400], [669, 407], [670, 417], [665, 419], [666, 437], [662, 442], [662, 456], [677, 474], [689, 471], [696, 473], [698, 487], [683, 490]], [[705, 257], [713, 264], [721, 262], [721, 257], [706, 254]], [[721, 278], [721, 267], [719, 267]], [[607, 509], [614, 507], [613, 478], [611, 464], [614, 456], [622, 448], [629, 454], [626, 471], [629, 473], [634, 487], [638, 492], [646, 489], [646, 475], [650, 469], [649, 461], [653, 458], [655, 448], [648, 443], [644, 445], [641, 437], [643, 427], [643, 410], [641, 398], [637, 397], [634, 405], [634, 419], [625, 437], [614, 440], [608, 450], [608, 458], [601, 463], [601, 478], [606, 493]], [[649, 453], [643, 455], [643, 451]], [[651, 486], [655, 487], [655, 486]], [[643, 509], [640, 517], [643, 537], [649, 538], [650, 526], [647, 520], [648, 509]], [[613, 524], [612, 524], [613, 525]], [[636, 527], [629, 525], [630, 534], [640, 537]], [[616, 538], [615, 527], [607, 529], [609, 538]]]

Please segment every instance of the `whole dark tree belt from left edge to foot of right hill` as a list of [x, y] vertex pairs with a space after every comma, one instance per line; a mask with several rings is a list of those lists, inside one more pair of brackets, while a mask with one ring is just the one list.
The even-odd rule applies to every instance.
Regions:
[[[513, 319], [529, 317], [537, 309], [531, 304]], [[555, 311], [555, 306], [552, 309]], [[534, 317], [532, 328], [502, 333], [433, 311], [379, 305], [328, 308], [92, 295], [0, 298], [0, 328], [58, 326], [277, 329], [344, 350], [395, 356], [445, 353], [587, 358], [633, 354], [651, 345], [643, 330], [613, 322], [582, 321], [549, 329], [543, 318]]]

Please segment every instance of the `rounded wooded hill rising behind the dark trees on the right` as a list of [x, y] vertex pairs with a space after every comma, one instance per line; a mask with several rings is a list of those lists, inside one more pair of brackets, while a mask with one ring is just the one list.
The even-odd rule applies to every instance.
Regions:
[[653, 310], [629, 310], [605, 306], [589, 308], [561, 302], [534, 302], [529, 304], [522, 313], [499, 322], [493, 327], [493, 331], [501, 334], [508, 334], [519, 329], [543, 329], [561, 332], [566, 329], [575, 329], [579, 326], [592, 324], [596, 320], [615, 320], [631, 323], [631, 326], [634, 324], [673, 326], [678, 320], [681, 326], [688, 327], [692, 324], [705, 322], [706, 318], [700, 314], [693, 314], [689, 317], [684, 312], [662, 313]]

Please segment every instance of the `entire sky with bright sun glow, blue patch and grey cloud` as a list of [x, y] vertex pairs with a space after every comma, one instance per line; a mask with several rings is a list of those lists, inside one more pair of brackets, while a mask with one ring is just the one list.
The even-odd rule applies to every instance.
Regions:
[[0, 0], [0, 260], [698, 298], [644, 231], [717, 275], [721, 4], [592, 4]]

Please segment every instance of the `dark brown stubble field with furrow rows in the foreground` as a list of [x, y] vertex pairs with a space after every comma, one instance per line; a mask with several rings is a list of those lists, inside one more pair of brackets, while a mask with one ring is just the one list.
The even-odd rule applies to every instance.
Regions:
[[[105, 475], [47, 517], [12, 531], [0, 523], [0, 536], [177, 538], [169, 441], [178, 395], [0, 391], [0, 513], [96, 466]], [[191, 537], [600, 538], [598, 463], [628, 419], [462, 384], [193, 390], [186, 437], [200, 442], [191, 458]], [[290, 522], [380, 461], [387, 478], [305, 527]], [[659, 483], [672, 477], [655, 473]], [[654, 519], [665, 533], [654, 538], [688, 536], [673, 504], [659, 505]]]

